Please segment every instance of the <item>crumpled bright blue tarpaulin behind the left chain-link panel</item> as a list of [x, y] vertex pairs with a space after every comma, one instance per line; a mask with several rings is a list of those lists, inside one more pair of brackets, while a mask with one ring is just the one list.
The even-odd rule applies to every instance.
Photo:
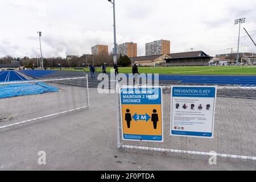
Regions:
[[27, 96], [58, 91], [59, 89], [56, 87], [44, 84], [43, 82], [8, 84], [0, 85], [0, 98]]

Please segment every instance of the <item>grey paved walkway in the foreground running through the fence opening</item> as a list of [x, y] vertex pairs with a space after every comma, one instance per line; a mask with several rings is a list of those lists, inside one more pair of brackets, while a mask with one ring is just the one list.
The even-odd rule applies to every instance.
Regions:
[[[123, 152], [116, 147], [114, 94], [90, 89], [90, 110], [0, 131], [1, 170], [255, 170], [255, 162]], [[38, 152], [46, 151], [46, 165]]]

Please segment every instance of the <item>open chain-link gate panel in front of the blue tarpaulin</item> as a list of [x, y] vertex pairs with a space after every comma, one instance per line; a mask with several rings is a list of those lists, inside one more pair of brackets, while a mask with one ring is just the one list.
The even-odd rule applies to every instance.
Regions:
[[3, 87], [16, 89], [10, 89], [10, 93], [0, 98], [0, 129], [15, 123], [89, 108], [87, 77], [0, 83], [0, 89]]

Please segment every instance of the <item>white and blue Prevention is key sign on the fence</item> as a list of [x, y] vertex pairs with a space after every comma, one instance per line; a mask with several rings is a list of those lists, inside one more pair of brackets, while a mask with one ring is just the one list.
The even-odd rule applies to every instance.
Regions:
[[171, 135], [213, 138], [216, 86], [171, 87]]

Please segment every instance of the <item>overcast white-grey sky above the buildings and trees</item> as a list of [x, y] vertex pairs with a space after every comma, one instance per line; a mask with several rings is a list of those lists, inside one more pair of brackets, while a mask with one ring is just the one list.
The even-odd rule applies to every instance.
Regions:
[[[171, 41], [171, 52], [202, 50], [209, 55], [237, 47], [234, 19], [246, 17], [241, 45], [256, 52], [243, 27], [256, 39], [255, 0], [115, 0], [117, 43], [135, 42], [138, 56], [144, 44]], [[42, 31], [43, 56], [91, 53], [96, 44], [113, 47], [113, 9], [107, 0], [1, 0], [0, 57], [39, 55], [37, 31]], [[234, 51], [236, 51], [234, 49]], [[243, 51], [243, 48], [241, 48]]]

